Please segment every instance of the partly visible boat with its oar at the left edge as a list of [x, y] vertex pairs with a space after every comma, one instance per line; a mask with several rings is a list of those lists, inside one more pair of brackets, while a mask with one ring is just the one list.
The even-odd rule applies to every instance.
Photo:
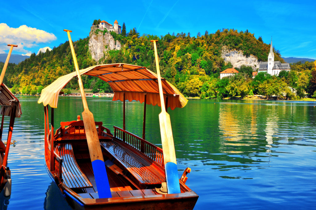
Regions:
[[[3, 190], [3, 195], [6, 197], [11, 195], [11, 171], [8, 167], [8, 156], [10, 145], [12, 143], [15, 143], [15, 141], [11, 142], [14, 120], [16, 117], [20, 117], [22, 114], [21, 104], [19, 100], [11, 93], [9, 88], [4, 83], [2, 83], [12, 49], [13, 47], [17, 47], [17, 45], [8, 46], [10, 46], [10, 50], [0, 75], [0, 115], [2, 115], [0, 127], [0, 192]], [[5, 139], [2, 138], [5, 116], [8, 116], [10, 118], [8, 136], [6, 141], [4, 141]], [[4, 145], [3, 142], [5, 142], [6, 145]]]

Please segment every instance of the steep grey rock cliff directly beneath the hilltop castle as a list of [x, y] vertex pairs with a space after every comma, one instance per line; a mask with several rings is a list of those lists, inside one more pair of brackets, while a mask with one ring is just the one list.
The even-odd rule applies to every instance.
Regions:
[[110, 32], [106, 32], [103, 35], [103, 31], [97, 32], [97, 29], [99, 28], [91, 27], [88, 45], [92, 59], [98, 62], [104, 57], [106, 51], [120, 50], [121, 43], [118, 40], [115, 41]]

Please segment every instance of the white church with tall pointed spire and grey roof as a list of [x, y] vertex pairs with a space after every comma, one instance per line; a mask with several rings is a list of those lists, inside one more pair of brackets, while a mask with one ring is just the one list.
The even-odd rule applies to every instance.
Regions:
[[274, 61], [272, 39], [271, 39], [268, 61], [259, 63], [258, 73], [259, 72], [267, 72], [270, 75], [278, 76], [280, 71], [284, 71], [284, 70], [290, 71], [291, 67], [290, 67], [289, 63], [281, 64], [280, 61]]

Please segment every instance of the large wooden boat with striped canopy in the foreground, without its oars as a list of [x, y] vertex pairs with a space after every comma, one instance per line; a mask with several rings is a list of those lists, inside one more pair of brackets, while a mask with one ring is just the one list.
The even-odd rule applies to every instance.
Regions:
[[[80, 74], [99, 77], [114, 91], [113, 101], [123, 102], [123, 128], [114, 130], [95, 123], [106, 164], [111, 198], [99, 198], [90, 160], [84, 123], [80, 115], [61, 122], [55, 130], [54, 108], [59, 91], [76, 72], [59, 77], [42, 90], [38, 103], [44, 105], [45, 163], [71, 207], [76, 209], [193, 209], [198, 195], [185, 185], [187, 168], [179, 179], [181, 193], [161, 194], [166, 182], [161, 148], [145, 140], [146, 104], [160, 104], [157, 75], [146, 67], [129, 64], [96, 65]], [[162, 78], [166, 108], [182, 108], [187, 100], [172, 84]], [[144, 102], [142, 138], [125, 130], [125, 100]], [[51, 123], [49, 109], [51, 107]], [[157, 117], [157, 116], [155, 116]]]

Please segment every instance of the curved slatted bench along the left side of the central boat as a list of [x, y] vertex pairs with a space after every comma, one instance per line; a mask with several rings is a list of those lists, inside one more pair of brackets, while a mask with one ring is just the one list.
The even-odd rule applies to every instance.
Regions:
[[91, 182], [82, 173], [76, 163], [71, 143], [58, 144], [55, 151], [61, 158], [63, 158], [62, 178], [65, 185], [70, 188], [92, 187]]

